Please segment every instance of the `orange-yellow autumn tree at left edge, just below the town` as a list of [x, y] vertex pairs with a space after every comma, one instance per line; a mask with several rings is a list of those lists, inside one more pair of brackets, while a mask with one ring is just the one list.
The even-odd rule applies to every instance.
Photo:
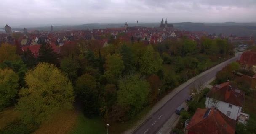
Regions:
[[0, 63], [5, 60], [19, 60], [19, 55], [16, 54], [16, 46], [9, 44], [1, 44], [0, 47]]

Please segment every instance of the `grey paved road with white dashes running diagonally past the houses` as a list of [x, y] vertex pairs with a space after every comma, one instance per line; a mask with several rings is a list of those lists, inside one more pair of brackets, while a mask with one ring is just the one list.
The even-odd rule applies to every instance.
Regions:
[[165, 122], [171, 117], [175, 112], [175, 109], [180, 106], [186, 98], [189, 96], [189, 88], [191, 86], [197, 86], [198, 84], [205, 83], [215, 77], [216, 73], [225, 67], [227, 64], [234, 62], [240, 58], [242, 53], [236, 54], [236, 57], [221, 63], [218, 67], [209, 71], [205, 75], [195, 79], [192, 83], [183, 88], [179, 93], [177, 93], [173, 98], [171, 98], [167, 103], [165, 103], [157, 112], [150, 116], [139, 128], [133, 131], [133, 134], [156, 134], [157, 131], [165, 124]]

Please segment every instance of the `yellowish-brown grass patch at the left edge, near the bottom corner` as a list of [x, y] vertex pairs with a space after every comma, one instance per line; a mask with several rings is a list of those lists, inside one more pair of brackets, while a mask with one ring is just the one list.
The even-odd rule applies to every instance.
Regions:
[[5, 108], [2, 112], [0, 112], [0, 130], [18, 117], [19, 112], [16, 111], [14, 107]]

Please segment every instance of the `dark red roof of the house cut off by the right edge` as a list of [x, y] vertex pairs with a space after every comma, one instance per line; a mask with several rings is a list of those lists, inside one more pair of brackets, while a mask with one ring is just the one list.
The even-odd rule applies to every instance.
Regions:
[[245, 51], [239, 60], [240, 63], [256, 65], [256, 52], [253, 51]]

